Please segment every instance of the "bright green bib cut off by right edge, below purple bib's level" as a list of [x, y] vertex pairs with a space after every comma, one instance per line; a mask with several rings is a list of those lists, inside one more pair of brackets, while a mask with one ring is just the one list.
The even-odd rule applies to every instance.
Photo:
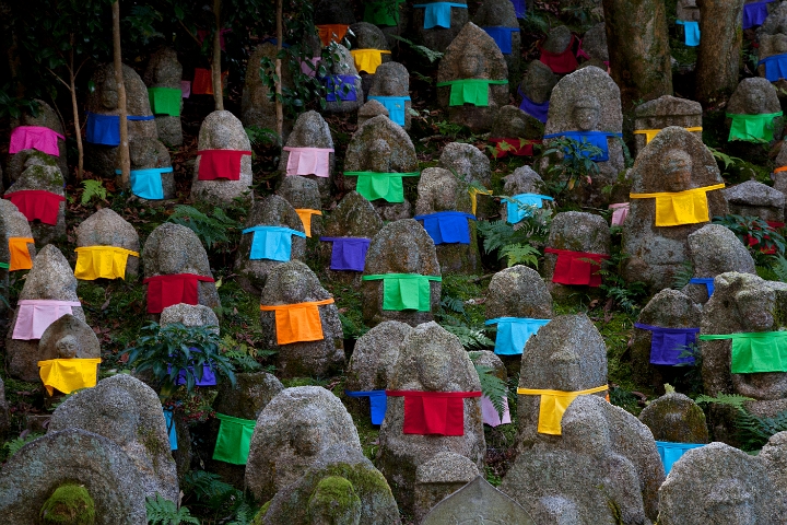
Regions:
[[733, 374], [787, 372], [787, 331], [703, 335], [703, 341], [732, 339]]

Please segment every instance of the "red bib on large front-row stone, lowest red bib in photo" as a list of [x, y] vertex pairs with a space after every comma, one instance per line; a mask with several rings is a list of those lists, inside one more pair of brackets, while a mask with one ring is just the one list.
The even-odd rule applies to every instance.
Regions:
[[480, 392], [386, 390], [387, 396], [404, 397], [402, 432], [420, 435], [465, 435], [466, 397]]

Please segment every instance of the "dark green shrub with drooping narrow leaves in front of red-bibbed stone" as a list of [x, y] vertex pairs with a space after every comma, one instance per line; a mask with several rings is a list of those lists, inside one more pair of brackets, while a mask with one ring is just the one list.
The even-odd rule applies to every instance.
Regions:
[[[222, 340], [205, 326], [185, 326], [173, 323], [160, 326], [151, 323], [142, 328], [137, 346], [127, 349], [128, 363], [137, 372], [151, 372], [161, 386], [161, 396], [169, 398], [178, 385], [178, 374], [186, 376], [186, 390], [191, 394], [197, 381], [202, 380], [203, 365], [210, 364], [216, 380], [221, 377], [235, 385], [232, 363], [220, 349]], [[196, 349], [196, 350], [192, 350]]]

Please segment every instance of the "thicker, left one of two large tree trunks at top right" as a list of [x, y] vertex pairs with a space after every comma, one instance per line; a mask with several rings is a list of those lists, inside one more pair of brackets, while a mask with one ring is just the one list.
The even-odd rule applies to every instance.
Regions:
[[672, 94], [663, 0], [603, 0], [612, 79], [623, 110]]

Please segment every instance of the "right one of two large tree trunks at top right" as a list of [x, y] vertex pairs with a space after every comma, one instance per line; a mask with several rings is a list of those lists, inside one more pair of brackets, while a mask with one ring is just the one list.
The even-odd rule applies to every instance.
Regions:
[[694, 98], [703, 107], [727, 101], [738, 86], [743, 0], [697, 0], [700, 50]]

